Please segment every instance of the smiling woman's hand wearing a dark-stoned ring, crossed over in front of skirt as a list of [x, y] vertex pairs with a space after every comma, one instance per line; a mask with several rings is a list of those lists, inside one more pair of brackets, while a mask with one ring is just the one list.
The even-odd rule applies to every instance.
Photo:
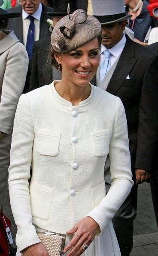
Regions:
[[64, 248], [64, 253], [70, 252], [67, 256], [79, 256], [84, 253], [83, 245], [89, 246], [100, 231], [99, 225], [91, 217], [85, 217], [80, 220], [73, 228], [67, 231], [67, 234], [75, 234], [70, 243]]

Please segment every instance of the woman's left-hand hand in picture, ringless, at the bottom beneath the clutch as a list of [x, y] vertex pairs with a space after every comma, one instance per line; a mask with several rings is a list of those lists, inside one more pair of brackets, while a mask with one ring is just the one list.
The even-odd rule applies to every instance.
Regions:
[[23, 250], [23, 256], [49, 256], [42, 243], [33, 244]]

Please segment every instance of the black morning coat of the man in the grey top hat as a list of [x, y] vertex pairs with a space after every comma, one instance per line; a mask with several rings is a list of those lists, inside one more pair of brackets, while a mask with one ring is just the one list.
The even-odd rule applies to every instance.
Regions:
[[127, 37], [106, 91], [120, 97], [125, 107], [133, 173], [135, 168], [152, 171], [158, 131], [158, 55]]

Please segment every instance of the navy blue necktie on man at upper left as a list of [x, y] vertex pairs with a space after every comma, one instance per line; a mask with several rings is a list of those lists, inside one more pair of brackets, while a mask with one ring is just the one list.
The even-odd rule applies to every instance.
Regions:
[[30, 20], [30, 25], [28, 28], [27, 34], [27, 43], [26, 43], [26, 50], [28, 53], [29, 59], [32, 59], [32, 51], [33, 51], [33, 44], [34, 44], [34, 32], [35, 32], [35, 25], [34, 25], [34, 17], [28, 16], [27, 19]]

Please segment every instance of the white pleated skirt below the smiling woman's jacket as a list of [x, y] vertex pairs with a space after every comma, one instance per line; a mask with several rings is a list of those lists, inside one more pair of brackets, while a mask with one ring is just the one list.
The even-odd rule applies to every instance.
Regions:
[[[37, 226], [36, 231], [50, 232]], [[58, 234], [65, 237], [65, 246], [72, 239], [72, 235]], [[67, 254], [65, 254], [66, 256]], [[16, 256], [21, 256], [21, 253], [17, 250]], [[82, 253], [82, 256], [121, 256], [118, 241], [115, 235], [115, 231], [112, 222], [104, 229], [100, 236], [96, 236], [88, 249]]]

